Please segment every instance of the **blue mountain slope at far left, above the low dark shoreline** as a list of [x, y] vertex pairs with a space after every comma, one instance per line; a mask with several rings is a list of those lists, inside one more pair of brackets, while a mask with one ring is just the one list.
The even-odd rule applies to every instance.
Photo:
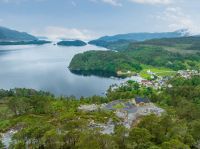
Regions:
[[11, 30], [5, 27], [0, 27], [0, 42], [19, 42], [38, 40], [36, 37], [16, 30]]

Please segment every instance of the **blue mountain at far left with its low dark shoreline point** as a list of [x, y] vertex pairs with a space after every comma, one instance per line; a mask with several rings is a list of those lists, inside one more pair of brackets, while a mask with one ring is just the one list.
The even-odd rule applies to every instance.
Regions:
[[39, 40], [37, 37], [25, 32], [0, 27], [0, 45], [42, 45], [51, 43], [46, 40]]

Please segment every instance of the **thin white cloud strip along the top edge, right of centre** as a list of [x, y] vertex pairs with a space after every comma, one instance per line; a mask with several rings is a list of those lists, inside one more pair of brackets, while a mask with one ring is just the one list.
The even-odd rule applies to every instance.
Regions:
[[172, 0], [129, 0], [131, 2], [140, 3], [140, 4], [163, 4], [167, 5], [172, 3]]

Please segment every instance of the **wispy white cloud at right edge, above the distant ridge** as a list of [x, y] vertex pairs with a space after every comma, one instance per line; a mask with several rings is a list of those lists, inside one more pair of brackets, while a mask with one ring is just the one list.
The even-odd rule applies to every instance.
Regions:
[[157, 16], [157, 19], [168, 24], [171, 30], [188, 29], [191, 33], [200, 33], [198, 23], [183, 12], [179, 7], [168, 7], [163, 14]]

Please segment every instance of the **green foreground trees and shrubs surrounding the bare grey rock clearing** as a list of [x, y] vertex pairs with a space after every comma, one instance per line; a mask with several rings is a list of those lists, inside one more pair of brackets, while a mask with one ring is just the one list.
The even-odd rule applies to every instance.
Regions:
[[[32, 89], [0, 91], [0, 132], [10, 128], [18, 132], [10, 148], [25, 149], [189, 149], [200, 141], [200, 78], [175, 77], [172, 88], [154, 90], [128, 81], [106, 97], [55, 97]], [[162, 116], [149, 115], [126, 129], [111, 111], [84, 112], [82, 104], [102, 104], [113, 100], [148, 97], [164, 108]], [[112, 135], [88, 127], [93, 120], [116, 122]], [[0, 143], [1, 147], [3, 144]]]

